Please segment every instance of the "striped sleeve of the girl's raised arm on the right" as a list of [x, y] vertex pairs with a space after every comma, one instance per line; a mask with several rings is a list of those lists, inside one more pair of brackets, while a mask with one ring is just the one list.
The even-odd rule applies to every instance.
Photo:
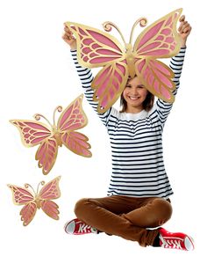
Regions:
[[[180, 77], [182, 74], [182, 66], [184, 62], [184, 56], [185, 56], [186, 48], [181, 48], [178, 55], [175, 55], [170, 61], [169, 67], [174, 71], [175, 77], [173, 78], [173, 81], [175, 83], [175, 91], [173, 92], [174, 95], [177, 94], [177, 90], [180, 86]], [[167, 121], [168, 114], [170, 113], [170, 110], [173, 106], [172, 103], [168, 103], [162, 99], [158, 99], [156, 102], [157, 106], [157, 112], [161, 121], [161, 126], [163, 127], [165, 122]]]

